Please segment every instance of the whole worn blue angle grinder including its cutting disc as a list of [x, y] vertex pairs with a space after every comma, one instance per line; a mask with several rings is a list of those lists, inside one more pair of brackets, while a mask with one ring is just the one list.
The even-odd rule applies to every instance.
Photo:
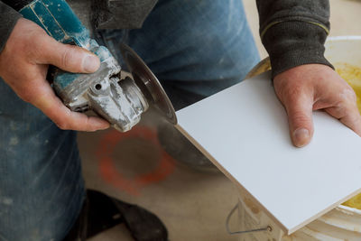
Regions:
[[136, 125], [150, 105], [161, 110], [171, 124], [177, 123], [174, 108], [160, 82], [130, 47], [125, 44], [119, 46], [132, 76], [123, 78], [116, 58], [106, 47], [99, 46], [90, 38], [88, 29], [66, 1], [14, 2], [13, 7], [24, 18], [39, 24], [58, 42], [78, 45], [99, 57], [100, 68], [92, 74], [49, 69], [47, 79], [51, 80], [56, 94], [70, 110], [85, 112], [91, 109], [121, 132]]

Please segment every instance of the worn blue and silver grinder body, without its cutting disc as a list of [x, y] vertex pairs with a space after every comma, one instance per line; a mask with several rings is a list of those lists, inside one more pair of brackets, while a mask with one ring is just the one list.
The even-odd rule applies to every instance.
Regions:
[[[96, 76], [92, 75], [91, 79], [88, 79], [86, 74], [57, 72], [53, 86], [70, 109], [73, 103], [78, 104], [79, 97], [82, 97], [83, 100], [90, 101], [91, 105], [83, 103], [79, 106], [81, 109], [91, 106], [97, 114], [105, 117], [121, 131], [128, 131], [140, 121], [141, 114], [148, 108], [147, 101], [142, 93], [133, 95], [117, 85], [121, 68], [116, 59], [105, 47], [99, 46], [96, 41], [90, 39], [87, 28], [80, 23], [77, 15], [65, 1], [36, 0], [20, 12], [25, 18], [42, 26], [58, 42], [76, 44], [93, 51], [105, 67], [106, 75], [101, 75], [97, 71]], [[112, 85], [110, 78], [116, 75], [116, 83]], [[95, 89], [94, 86], [97, 84], [102, 89]], [[127, 89], [141, 92], [135, 85], [134, 88]], [[143, 97], [141, 102], [145, 103], [144, 105], [138, 105], [139, 97]]]

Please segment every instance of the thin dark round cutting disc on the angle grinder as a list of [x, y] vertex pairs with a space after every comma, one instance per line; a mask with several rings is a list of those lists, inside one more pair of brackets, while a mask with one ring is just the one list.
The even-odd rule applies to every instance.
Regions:
[[136, 85], [142, 90], [149, 103], [153, 103], [171, 124], [176, 125], [177, 117], [171, 105], [171, 100], [153, 72], [129, 46], [124, 43], [121, 44], [120, 51], [122, 51], [125, 64], [132, 73]]

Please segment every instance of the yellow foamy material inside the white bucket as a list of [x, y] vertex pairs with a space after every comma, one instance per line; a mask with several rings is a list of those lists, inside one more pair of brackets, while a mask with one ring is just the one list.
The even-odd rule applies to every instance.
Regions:
[[[357, 107], [361, 113], [361, 68], [347, 63], [341, 63], [336, 65], [336, 71], [355, 90]], [[361, 209], [361, 193], [352, 199], [348, 199], [346, 202], [342, 203], [342, 205], [354, 209]]]

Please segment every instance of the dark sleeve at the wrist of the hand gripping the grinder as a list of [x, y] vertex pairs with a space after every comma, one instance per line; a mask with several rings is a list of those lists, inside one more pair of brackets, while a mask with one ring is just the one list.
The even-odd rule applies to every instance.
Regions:
[[0, 52], [3, 51], [15, 23], [21, 17], [22, 14], [0, 1]]

